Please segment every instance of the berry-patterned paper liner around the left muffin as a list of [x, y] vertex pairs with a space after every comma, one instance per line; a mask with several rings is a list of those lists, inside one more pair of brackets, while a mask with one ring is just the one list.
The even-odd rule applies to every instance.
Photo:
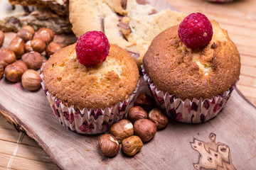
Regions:
[[[40, 76], [43, 80], [43, 74]], [[96, 110], [93, 108], [83, 108], [80, 110], [73, 106], [66, 106], [62, 101], [53, 96], [53, 94], [50, 94], [44, 86], [44, 81], [42, 81], [41, 85], [50, 103], [50, 107], [53, 109], [53, 113], [60, 124], [68, 128], [68, 130], [86, 135], [106, 132], [113, 123], [123, 119], [139, 88], [138, 82], [136, 89], [126, 100], [120, 101], [104, 110], [100, 108]]]

